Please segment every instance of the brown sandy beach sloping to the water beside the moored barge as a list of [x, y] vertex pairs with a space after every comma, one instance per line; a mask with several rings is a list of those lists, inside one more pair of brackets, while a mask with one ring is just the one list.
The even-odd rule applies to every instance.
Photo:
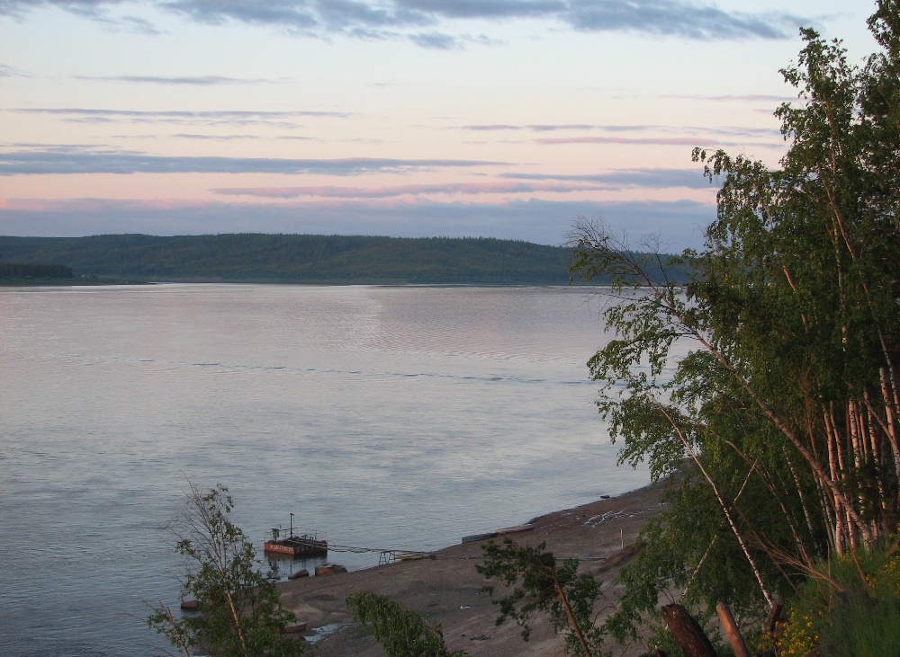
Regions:
[[[614, 598], [619, 592], [615, 584], [618, 570], [634, 557], [635, 539], [644, 523], [659, 512], [659, 495], [664, 486], [653, 484], [549, 513], [534, 519], [529, 523], [533, 529], [517, 533], [514, 538], [521, 545], [545, 542], [558, 557], [588, 559], [581, 569], [594, 573], [603, 582], [604, 595]], [[444, 628], [447, 647], [464, 650], [473, 657], [563, 655], [562, 637], [554, 635], [545, 617], [536, 619], [527, 643], [515, 623], [496, 625], [498, 608], [492, 604], [491, 596], [482, 591], [488, 582], [475, 571], [475, 564], [481, 560], [481, 545], [479, 541], [467, 542], [446, 547], [425, 559], [304, 578], [281, 583], [279, 587], [285, 606], [297, 614], [300, 622], [307, 623], [311, 630], [332, 631], [317, 644], [317, 654], [322, 657], [384, 654], [371, 630], [353, 623], [344, 606], [348, 595], [361, 590], [389, 596], [426, 617], [429, 623], [439, 623]], [[338, 554], [332, 559], [340, 561]], [[624, 654], [641, 652], [640, 646], [634, 646]]]

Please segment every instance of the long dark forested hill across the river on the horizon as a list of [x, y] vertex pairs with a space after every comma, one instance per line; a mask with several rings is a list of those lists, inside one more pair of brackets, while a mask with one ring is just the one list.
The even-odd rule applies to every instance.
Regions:
[[139, 280], [563, 285], [572, 251], [487, 238], [342, 235], [0, 236], [0, 262]]

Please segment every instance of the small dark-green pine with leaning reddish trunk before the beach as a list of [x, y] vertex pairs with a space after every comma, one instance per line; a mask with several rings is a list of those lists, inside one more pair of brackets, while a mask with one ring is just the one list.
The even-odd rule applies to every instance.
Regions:
[[[603, 630], [594, 625], [594, 607], [600, 597], [599, 582], [590, 573], [578, 573], [578, 560], [558, 564], [553, 553], [539, 546], [519, 546], [511, 538], [502, 545], [489, 541], [482, 546], [484, 564], [475, 569], [488, 580], [495, 579], [511, 592], [494, 603], [500, 606], [497, 625], [513, 618], [522, 627], [522, 638], [531, 635], [530, 623], [537, 613], [549, 615], [555, 632], [565, 631], [566, 654], [600, 654]], [[485, 587], [491, 595], [494, 587]]]

